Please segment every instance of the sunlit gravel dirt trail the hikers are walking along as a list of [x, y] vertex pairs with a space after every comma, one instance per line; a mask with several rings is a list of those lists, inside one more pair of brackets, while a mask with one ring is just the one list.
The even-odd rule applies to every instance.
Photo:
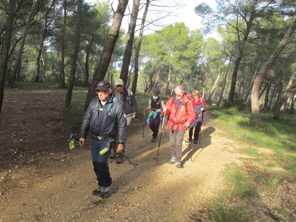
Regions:
[[[40, 109], [46, 104], [46, 96], [42, 98]], [[62, 100], [56, 101], [54, 107], [61, 104]], [[1, 114], [1, 117], [6, 119], [6, 122], [2, 122], [5, 124], [1, 132], [11, 130], [11, 122], [7, 119], [7, 116], [11, 115], [9, 110], [11, 109], [4, 109]], [[24, 115], [27, 113], [32, 116], [35, 112], [35, 109], [31, 112], [24, 111]], [[222, 175], [225, 165], [237, 163], [241, 157], [241, 154], [236, 153], [229, 145], [236, 142], [223, 136], [223, 129], [214, 127], [210, 112], [206, 112], [201, 143], [191, 144], [193, 162], [188, 144], [183, 142], [181, 163], [184, 167], [176, 168], [174, 164], [167, 164], [170, 159], [169, 139], [163, 132], [156, 163], [160, 136], [152, 143], [152, 132], [145, 127], [145, 136], [142, 138], [142, 122], [135, 120], [132, 121], [131, 133], [128, 136], [126, 156], [137, 164], [137, 168], [128, 161], [118, 165], [115, 160], [110, 160], [112, 193], [110, 197], [100, 198], [91, 194], [97, 185], [90, 150], [78, 148], [76, 143], [75, 149], [71, 151], [67, 144], [70, 132], [63, 128], [62, 122], [58, 124], [59, 117], [48, 115], [52, 117], [47, 118], [56, 121], [56, 124], [53, 124], [56, 129], [49, 126], [50, 130], [64, 132], [51, 134], [54, 135], [52, 139], [55, 144], [53, 140], [46, 140], [54, 145], [53, 149], [46, 153], [40, 151], [39, 155], [36, 154], [39, 160], [31, 160], [30, 164], [22, 162], [17, 166], [15, 161], [15, 164], [11, 162], [6, 168], [2, 165], [1, 222], [211, 221], [208, 204], [224, 184]], [[35, 124], [37, 125], [34, 127], [40, 129], [45, 127], [48, 121], [44, 121], [44, 125], [41, 125], [42, 121]], [[168, 135], [167, 127], [165, 129]], [[56, 141], [58, 139], [55, 137], [59, 138], [59, 141]], [[30, 137], [30, 143], [35, 143], [39, 148], [44, 145], [45, 141], [38, 144], [37, 140], [37, 136], [35, 142], [34, 137]], [[87, 142], [90, 146], [89, 138]], [[11, 149], [11, 152], [13, 150]], [[263, 218], [263, 221], [268, 220]]]

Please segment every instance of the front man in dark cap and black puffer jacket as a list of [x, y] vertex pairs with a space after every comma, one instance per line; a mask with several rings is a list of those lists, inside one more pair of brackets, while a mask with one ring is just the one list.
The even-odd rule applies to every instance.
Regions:
[[109, 81], [98, 82], [98, 97], [89, 103], [81, 124], [79, 145], [84, 145], [87, 131], [91, 132], [91, 157], [99, 187], [92, 193], [107, 197], [112, 187], [107, 159], [117, 135], [116, 152], [120, 153], [126, 139], [126, 116], [123, 105], [111, 94]]

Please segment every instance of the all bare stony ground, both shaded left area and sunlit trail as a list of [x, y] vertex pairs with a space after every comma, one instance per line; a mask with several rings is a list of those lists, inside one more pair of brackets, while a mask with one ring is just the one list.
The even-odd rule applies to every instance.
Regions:
[[[226, 164], [242, 165], [245, 155], [237, 149], [242, 144], [225, 136], [223, 126], [212, 124], [210, 112], [205, 113], [201, 143], [192, 143], [190, 152], [183, 142], [183, 168], [167, 164], [167, 127], [156, 162], [160, 136], [152, 143], [152, 132], [145, 127], [143, 138], [143, 121], [133, 120], [126, 156], [136, 167], [110, 159], [112, 192], [100, 198], [91, 194], [97, 185], [90, 150], [76, 142], [69, 149], [73, 131], [61, 114], [65, 94], [61, 89], [5, 90], [0, 114], [1, 222], [213, 221], [210, 203], [225, 184]], [[295, 185], [287, 187], [295, 203]], [[279, 202], [282, 192], [273, 194]], [[269, 200], [254, 202], [251, 221], [276, 221]], [[283, 221], [291, 218], [295, 215]]]

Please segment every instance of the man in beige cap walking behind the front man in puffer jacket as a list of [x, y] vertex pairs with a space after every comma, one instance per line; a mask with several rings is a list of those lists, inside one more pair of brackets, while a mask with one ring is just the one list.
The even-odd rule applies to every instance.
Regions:
[[[124, 108], [124, 113], [126, 114], [127, 126], [131, 123], [131, 120], [135, 118], [137, 112], [137, 102], [136, 98], [133, 95], [133, 92], [129, 89], [126, 89], [123, 84], [122, 79], [115, 80], [115, 90], [112, 91], [112, 95], [117, 98], [122, 104]], [[128, 131], [128, 130], [127, 130]], [[127, 136], [127, 133], [126, 133]], [[125, 152], [126, 141], [123, 143], [123, 150], [118, 153], [116, 163], [123, 163], [123, 154]], [[114, 159], [117, 155], [116, 150], [113, 150], [110, 159]]]

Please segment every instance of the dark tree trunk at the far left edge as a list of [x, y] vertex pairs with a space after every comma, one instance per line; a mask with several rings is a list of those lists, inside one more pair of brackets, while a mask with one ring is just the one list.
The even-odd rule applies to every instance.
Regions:
[[0, 113], [2, 110], [3, 105], [3, 98], [4, 98], [4, 79], [7, 69], [8, 63], [8, 55], [9, 55], [9, 48], [12, 36], [12, 29], [13, 29], [13, 18], [15, 15], [15, 5], [16, 0], [9, 1], [9, 9], [7, 15], [7, 23], [6, 23], [6, 31], [4, 35], [4, 43], [1, 52], [1, 61], [0, 61]]

